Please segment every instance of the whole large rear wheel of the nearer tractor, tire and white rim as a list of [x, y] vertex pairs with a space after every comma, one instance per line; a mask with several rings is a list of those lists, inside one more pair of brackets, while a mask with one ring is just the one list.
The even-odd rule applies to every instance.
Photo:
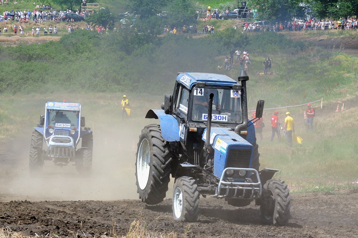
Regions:
[[171, 148], [161, 136], [159, 125], [144, 127], [136, 153], [136, 184], [142, 202], [155, 205], [168, 191], [171, 172]]

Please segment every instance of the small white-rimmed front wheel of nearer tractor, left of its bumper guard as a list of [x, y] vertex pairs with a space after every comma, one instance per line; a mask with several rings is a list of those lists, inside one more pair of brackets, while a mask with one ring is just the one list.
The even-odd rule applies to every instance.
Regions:
[[178, 222], [195, 222], [199, 214], [199, 192], [195, 179], [180, 177], [173, 189], [173, 216]]

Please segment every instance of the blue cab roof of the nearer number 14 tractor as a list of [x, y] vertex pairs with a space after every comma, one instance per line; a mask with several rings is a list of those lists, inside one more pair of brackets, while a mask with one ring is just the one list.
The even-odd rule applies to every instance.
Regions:
[[237, 81], [223, 74], [210, 74], [210, 73], [197, 73], [197, 72], [184, 72], [179, 73], [176, 81], [182, 83], [188, 89], [196, 85], [197, 82], [205, 82], [205, 85], [217, 86], [233, 86], [240, 85]]

